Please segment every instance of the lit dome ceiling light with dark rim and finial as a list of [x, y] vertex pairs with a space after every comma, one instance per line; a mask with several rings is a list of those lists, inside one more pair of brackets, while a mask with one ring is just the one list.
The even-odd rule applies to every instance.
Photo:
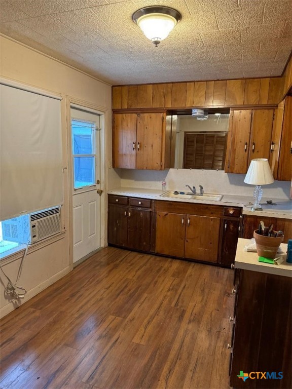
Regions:
[[180, 21], [181, 15], [173, 8], [154, 6], [139, 9], [132, 19], [157, 47]]

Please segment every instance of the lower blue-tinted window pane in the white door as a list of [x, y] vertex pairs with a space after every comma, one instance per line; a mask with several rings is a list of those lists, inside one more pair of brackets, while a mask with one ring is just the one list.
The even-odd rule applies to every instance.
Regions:
[[95, 157], [74, 157], [74, 187], [95, 184]]

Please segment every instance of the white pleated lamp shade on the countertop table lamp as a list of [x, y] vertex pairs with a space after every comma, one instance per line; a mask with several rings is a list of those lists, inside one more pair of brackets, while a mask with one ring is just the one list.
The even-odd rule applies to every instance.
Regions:
[[266, 158], [251, 160], [244, 182], [251, 185], [272, 184], [274, 177], [269, 161]]

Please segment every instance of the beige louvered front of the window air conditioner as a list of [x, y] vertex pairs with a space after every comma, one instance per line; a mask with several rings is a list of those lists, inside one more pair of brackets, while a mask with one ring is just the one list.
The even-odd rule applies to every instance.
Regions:
[[61, 232], [61, 208], [50, 208], [29, 215], [30, 243], [38, 242]]

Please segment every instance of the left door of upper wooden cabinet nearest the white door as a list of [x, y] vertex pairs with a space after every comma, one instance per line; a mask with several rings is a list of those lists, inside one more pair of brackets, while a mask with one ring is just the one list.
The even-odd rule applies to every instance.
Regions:
[[114, 114], [114, 168], [136, 168], [136, 113]]

